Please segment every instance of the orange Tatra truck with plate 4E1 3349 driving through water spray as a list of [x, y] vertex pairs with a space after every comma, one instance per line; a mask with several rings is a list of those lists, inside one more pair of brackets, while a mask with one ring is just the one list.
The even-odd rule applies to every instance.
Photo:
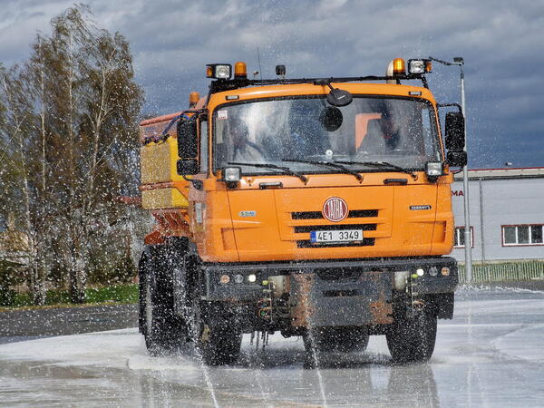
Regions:
[[231, 364], [243, 334], [280, 332], [308, 353], [385, 335], [394, 362], [429, 359], [453, 314], [451, 168], [467, 160], [461, 112], [442, 137], [439, 108], [459, 106], [435, 102], [431, 61], [347, 78], [232, 68], [209, 64], [207, 97], [141, 122], [151, 355], [189, 341], [206, 364]]

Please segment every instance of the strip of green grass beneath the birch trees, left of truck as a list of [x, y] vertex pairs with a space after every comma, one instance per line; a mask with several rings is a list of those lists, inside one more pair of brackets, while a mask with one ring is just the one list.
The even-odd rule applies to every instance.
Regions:
[[[0, 306], [26, 307], [33, 306], [30, 294], [12, 292], [2, 296]], [[113, 287], [91, 287], [85, 290], [85, 304], [97, 303], [136, 303], [138, 302], [138, 285], [116, 285]], [[70, 305], [68, 290], [48, 290], [45, 295], [45, 306]]]

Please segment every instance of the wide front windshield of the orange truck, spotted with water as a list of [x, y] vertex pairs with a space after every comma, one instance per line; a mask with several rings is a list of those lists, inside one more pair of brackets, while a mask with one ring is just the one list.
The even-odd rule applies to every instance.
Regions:
[[216, 169], [237, 163], [245, 174], [286, 165], [308, 173], [342, 171], [321, 161], [357, 171], [384, 170], [372, 162], [423, 170], [441, 160], [429, 102], [356, 96], [342, 108], [311, 96], [221, 106], [214, 113], [214, 152]]

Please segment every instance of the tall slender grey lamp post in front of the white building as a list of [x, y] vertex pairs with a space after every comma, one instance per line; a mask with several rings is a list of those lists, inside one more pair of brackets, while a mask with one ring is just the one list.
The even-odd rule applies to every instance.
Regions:
[[[439, 60], [438, 58], [429, 57], [432, 61], [437, 63], [442, 63], [444, 65], [459, 65], [461, 68], [461, 112], [465, 118], [465, 147], [464, 151], [467, 151], [467, 116], [465, 108], [465, 97], [464, 97], [464, 60], [462, 57], [453, 58], [453, 62]], [[464, 228], [464, 247], [465, 247], [465, 272], [467, 283], [472, 281], [472, 241], [471, 241], [471, 210], [469, 203], [469, 165], [468, 163], [462, 168], [462, 189], [463, 189], [463, 204], [464, 204], [464, 219], [465, 219], [465, 228]]]

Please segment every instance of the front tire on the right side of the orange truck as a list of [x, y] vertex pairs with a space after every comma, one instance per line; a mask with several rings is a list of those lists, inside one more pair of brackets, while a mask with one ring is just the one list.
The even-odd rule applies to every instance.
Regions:
[[412, 318], [398, 318], [385, 334], [393, 362], [428, 361], [436, 342], [436, 315], [423, 310]]

